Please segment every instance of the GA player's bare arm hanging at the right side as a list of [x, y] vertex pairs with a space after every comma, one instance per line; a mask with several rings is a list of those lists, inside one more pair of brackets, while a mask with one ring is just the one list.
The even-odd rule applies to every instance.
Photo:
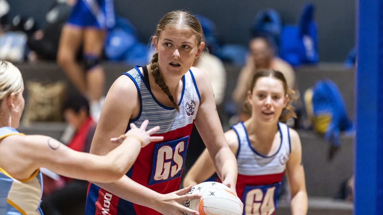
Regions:
[[291, 154], [286, 165], [286, 176], [291, 191], [291, 214], [305, 215], [308, 209], [308, 197], [302, 164], [301, 140], [294, 129], [289, 130]]

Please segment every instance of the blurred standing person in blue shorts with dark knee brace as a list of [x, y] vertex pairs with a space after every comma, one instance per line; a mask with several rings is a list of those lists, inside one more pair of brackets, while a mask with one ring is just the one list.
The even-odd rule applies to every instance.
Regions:
[[[114, 24], [113, 0], [77, 0], [59, 41], [57, 62], [90, 101], [90, 114], [95, 121], [105, 98], [105, 74], [100, 58], [107, 29]], [[81, 45], [83, 64], [76, 60]]]

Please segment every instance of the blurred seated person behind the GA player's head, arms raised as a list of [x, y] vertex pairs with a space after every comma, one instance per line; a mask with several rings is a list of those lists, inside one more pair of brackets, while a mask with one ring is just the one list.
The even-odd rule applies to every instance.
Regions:
[[237, 105], [240, 121], [249, 119], [250, 112], [244, 109], [247, 90], [250, 87], [250, 80], [259, 69], [272, 68], [283, 73], [287, 86], [295, 90], [295, 72], [288, 62], [275, 56], [275, 50], [266, 37], [254, 37], [249, 42], [249, 56], [246, 65], [242, 68], [237, 85], [233, 91], [232, 98]]

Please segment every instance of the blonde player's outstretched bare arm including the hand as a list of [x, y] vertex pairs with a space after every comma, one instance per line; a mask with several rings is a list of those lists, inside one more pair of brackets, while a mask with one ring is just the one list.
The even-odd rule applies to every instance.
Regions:
[[[146, 132], [146, 125], [147, 122], [141, 128], [133, 127], [129, 130], [125, 134], [125, 140], [115, 143], [116, 148], [105, 156], [72, 150], [58, 140], [43, 135], [10, 136], [4, 142], [2, 150], [7, 151], [8, 156], [16, 158], [15, 166], [24, 167], [21, 173], [12, 172], [18, 179], [27, 178], [28, 174], [44, 167], [70, 178], [113, 182], [133, 165], [141, 147], [162, 139], [150, 137], [159, 127]], [[11, 147], [16, 147], [16, 150]]]

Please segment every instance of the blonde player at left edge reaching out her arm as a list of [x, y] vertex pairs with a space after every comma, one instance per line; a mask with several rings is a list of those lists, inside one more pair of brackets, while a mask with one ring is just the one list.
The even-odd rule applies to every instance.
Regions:
[[[150, 135], [148, 121], [122, 138], [107, 140], [116, 147], [105, 156], [72, 150], [43, 135], [24, 135], [16, 129], [24, 109], [24, 84], [13, 64], [0, 60], [0, 214], [42, 215], [40, 167], [62, 176], [99, 182], [113, 182], [131, 167], [141, 147], [163, 137]], [[118, 136], [118, 135], [117, 135]], [[119, 142], [121, 144], [117, 144]]]

